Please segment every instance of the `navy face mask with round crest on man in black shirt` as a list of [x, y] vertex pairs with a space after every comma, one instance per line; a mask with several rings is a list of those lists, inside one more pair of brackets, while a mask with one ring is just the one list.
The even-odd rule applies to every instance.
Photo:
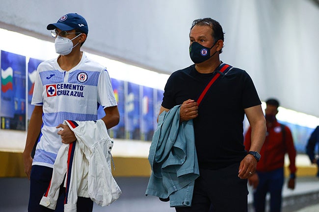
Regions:
[[[217, 43], [217, 41], [213, 44], [213, 46], [215, 46], [215, 44]], [[202, 63], [208, 59], [210, 59], [211, 57], [213, 57], [214, 54], [216, 54], [217, 51], [215, 51], [215, 53], [213, 53], [212, 56], [211, 55], [211, 49], [213, 48], [210, 47], [204, 47], [203, 45], [197, 43], [197, 42], [193, 42], [190, 46], [189, 46], [189, 56], [190, 59], [196, 64], [196, 63]]]

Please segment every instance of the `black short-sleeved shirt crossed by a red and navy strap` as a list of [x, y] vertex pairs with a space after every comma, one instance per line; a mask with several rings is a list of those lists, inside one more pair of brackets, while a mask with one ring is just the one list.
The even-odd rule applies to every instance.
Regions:
[[[215, 73], [199, 73], [195, 64], [175, 71], [167, 80], [162, 106], [171, 109], [187, 99], [197, 100]], [[233, 68], [213, 83], [194, 118], [195, 144], [200, 168], [218, 169], [240, 162], [244, 109], [260, 105], [252, 79]]]

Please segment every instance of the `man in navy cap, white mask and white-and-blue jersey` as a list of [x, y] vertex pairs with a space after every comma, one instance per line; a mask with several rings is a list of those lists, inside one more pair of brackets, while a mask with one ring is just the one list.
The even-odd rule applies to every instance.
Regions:
[[[52, 211], [39, 205], [40, 200], [50, 185], [60, 146], [77, 140], [69, 126], [62, 124], [63, 120], [96, 121], [97, 109], [101, 105], [106, 113], [102, 120], [107, 129], [119, 122], [117, 103], [106, 68], [88, 59], [80, 50], [88, 34], [85, 19], [77, 13], [69, 13], [56, 23], [49, 24], [47, 29], [52, 30], [59, 56], [44, 61], [37, 69], [31, 102], [35, 108], [23, 153], [25, 172], [30, 180], [29, 212]], [[39, 134], [32, 160], [32, 147]], [[63, 212], [66, 195], [63, 184], [59, 194], [55, 211]], [[79, 196], [77, 211], [92, 210], [92, 200], [86, 195]]]

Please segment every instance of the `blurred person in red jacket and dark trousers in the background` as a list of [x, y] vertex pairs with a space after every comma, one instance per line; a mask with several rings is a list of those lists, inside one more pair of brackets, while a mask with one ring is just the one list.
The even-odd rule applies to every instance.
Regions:
[[[254, 208], [256, 212], [265, 212], [266, 194], [270, 193], [270, 212], [281, 211], [282, 188], [284, 184], [284, 161], [285, 154], [288, 153], [290, 160], [290, 179], [288, 188], [295, 186], [295, 157], [296, 150], [293, 145], [292, 133], [290, 129], [280, 124], [276, 115], [278, 113], [279, 102], [276, 99], [266, 101], [266, 139], [261, 149], [262, 155], [257, 164], [256, 173], [248, 178], [249, 185], [253, 186]], [[249, 151], [251, 144], [251, 128], [246, 134], [244, 145]]]

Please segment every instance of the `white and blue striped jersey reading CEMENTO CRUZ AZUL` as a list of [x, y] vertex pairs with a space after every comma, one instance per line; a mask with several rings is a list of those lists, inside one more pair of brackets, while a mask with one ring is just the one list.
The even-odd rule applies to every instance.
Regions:
[[97, 120], [99, 105], [116, 106], [111, 81], [102, 65], [88, 59], [63, 71], [57, 58], [42, 62], [37, 69], [32, 105], [43, 106], [43, 126], [32, 165], [53, 167], [62, 144], [55, 127], [64, 120]]

